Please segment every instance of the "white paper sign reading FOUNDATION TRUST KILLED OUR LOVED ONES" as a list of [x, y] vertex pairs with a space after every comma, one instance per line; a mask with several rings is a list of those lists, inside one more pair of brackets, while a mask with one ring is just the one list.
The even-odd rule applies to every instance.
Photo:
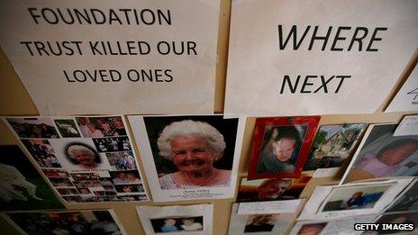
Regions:
[[219, 2], [7, 0], [0, 45], [43, 115], [213, 113]]

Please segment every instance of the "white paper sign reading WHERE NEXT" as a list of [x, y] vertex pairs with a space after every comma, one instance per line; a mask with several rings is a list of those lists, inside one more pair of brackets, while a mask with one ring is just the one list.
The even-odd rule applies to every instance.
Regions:
[[418, 45], [417, 12], [413, 0], [232, 1], [225, 113], [374, 113]]

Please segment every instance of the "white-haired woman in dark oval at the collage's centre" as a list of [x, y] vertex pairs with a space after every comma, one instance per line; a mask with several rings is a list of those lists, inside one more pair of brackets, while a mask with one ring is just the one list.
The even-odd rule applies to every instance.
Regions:
[[82, 169], [100, 167], [101, 159], [97, 153], [85, 145], [73, 144], [67, 149], [69, 160]]

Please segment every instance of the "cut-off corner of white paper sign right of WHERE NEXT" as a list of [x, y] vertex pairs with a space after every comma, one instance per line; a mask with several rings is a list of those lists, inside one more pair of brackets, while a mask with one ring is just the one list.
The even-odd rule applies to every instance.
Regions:
[[418, 67], [413, 68], [413, 72], [405, 81], [404, 86], [396, 94], [395, 98], [386, 108], [389, 112], [418, 111]]

